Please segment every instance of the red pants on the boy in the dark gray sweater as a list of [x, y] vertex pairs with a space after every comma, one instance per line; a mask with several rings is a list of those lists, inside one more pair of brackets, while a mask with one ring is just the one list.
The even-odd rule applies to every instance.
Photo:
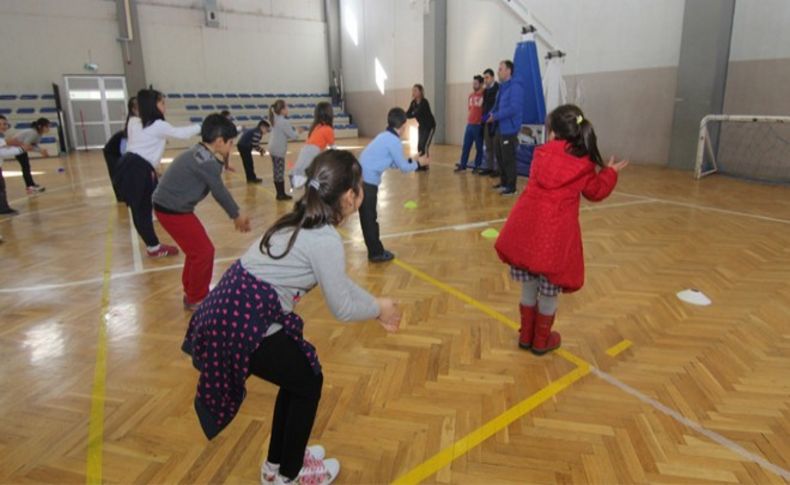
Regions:
[[181, 282], [187, 303], [198, 303], [208, 295], [214, 270], [214, 245], [195, 214], [166, 214], [155, 211], [159, 224], [165, 228], [184, 251], [184, 272]]

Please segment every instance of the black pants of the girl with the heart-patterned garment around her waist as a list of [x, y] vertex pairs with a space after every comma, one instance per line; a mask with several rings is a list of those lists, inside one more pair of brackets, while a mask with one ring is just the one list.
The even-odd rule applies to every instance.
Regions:
[[284, 330], [263, 339], [250, 359], [250, 374], [280, 387], [267, 460], [279, 463], [280, 474], [294, 479], [302, 469], [324, 376], [313, 372], [304, 352]]

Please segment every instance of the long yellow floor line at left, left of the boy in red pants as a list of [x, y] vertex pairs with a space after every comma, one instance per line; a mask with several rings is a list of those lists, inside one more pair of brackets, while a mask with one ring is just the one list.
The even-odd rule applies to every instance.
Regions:
[[88, 457], [86, 483], [102, 483], [102, 444], [104, 440], [104, 390], [107, 377], [107, 313], [110, 307], [110, 276], [112, 275], [112, 241], [117, 212], [110, 209], [107, 236], [104, 242], [104, 279], [101, 293], [101, 317], [93, 372], [91, 414], [88, 425]]

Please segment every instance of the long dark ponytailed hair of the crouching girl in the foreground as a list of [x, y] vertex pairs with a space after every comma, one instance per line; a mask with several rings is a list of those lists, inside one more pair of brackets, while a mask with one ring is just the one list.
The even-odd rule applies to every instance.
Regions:
[[[355, 194], [362, 190], [362, 166], [354, 154], [346, 150], [327, 150], [318, 155], [307, 167], [307, 177], [309, 182], [302, 198], [290, 213], [277, 219], [261, 239], [261, 253], [272, 259], [282, 259], [288, 254], [300, 230], [340, 224], [343, 220], [343, 194], [349, 189]], [[272, 236], [287, 228], [294, 229], [288, 246], [282, 254], [272, 254]]]

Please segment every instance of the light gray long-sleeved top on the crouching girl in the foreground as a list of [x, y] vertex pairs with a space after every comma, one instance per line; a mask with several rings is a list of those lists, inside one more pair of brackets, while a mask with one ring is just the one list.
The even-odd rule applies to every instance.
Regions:
[[[284, 229], [272, 236], [272, 254], [283, 253], [291, 234], [292, 229]], [[260, 240], [250, 246], [241, 257], [241, 265], [256, 278], [272, 285], [286, 312], [293, 311], [299, 299], [318, 285], [329, 310], [338, 320], [370, 320], [379, 316], [379, 305], [373, 295], [346, 274], [343, 241], [334, 227], [302, 229], [293, 248], [282, 259], [272, 259], [261, 253], [259, 246]]]

